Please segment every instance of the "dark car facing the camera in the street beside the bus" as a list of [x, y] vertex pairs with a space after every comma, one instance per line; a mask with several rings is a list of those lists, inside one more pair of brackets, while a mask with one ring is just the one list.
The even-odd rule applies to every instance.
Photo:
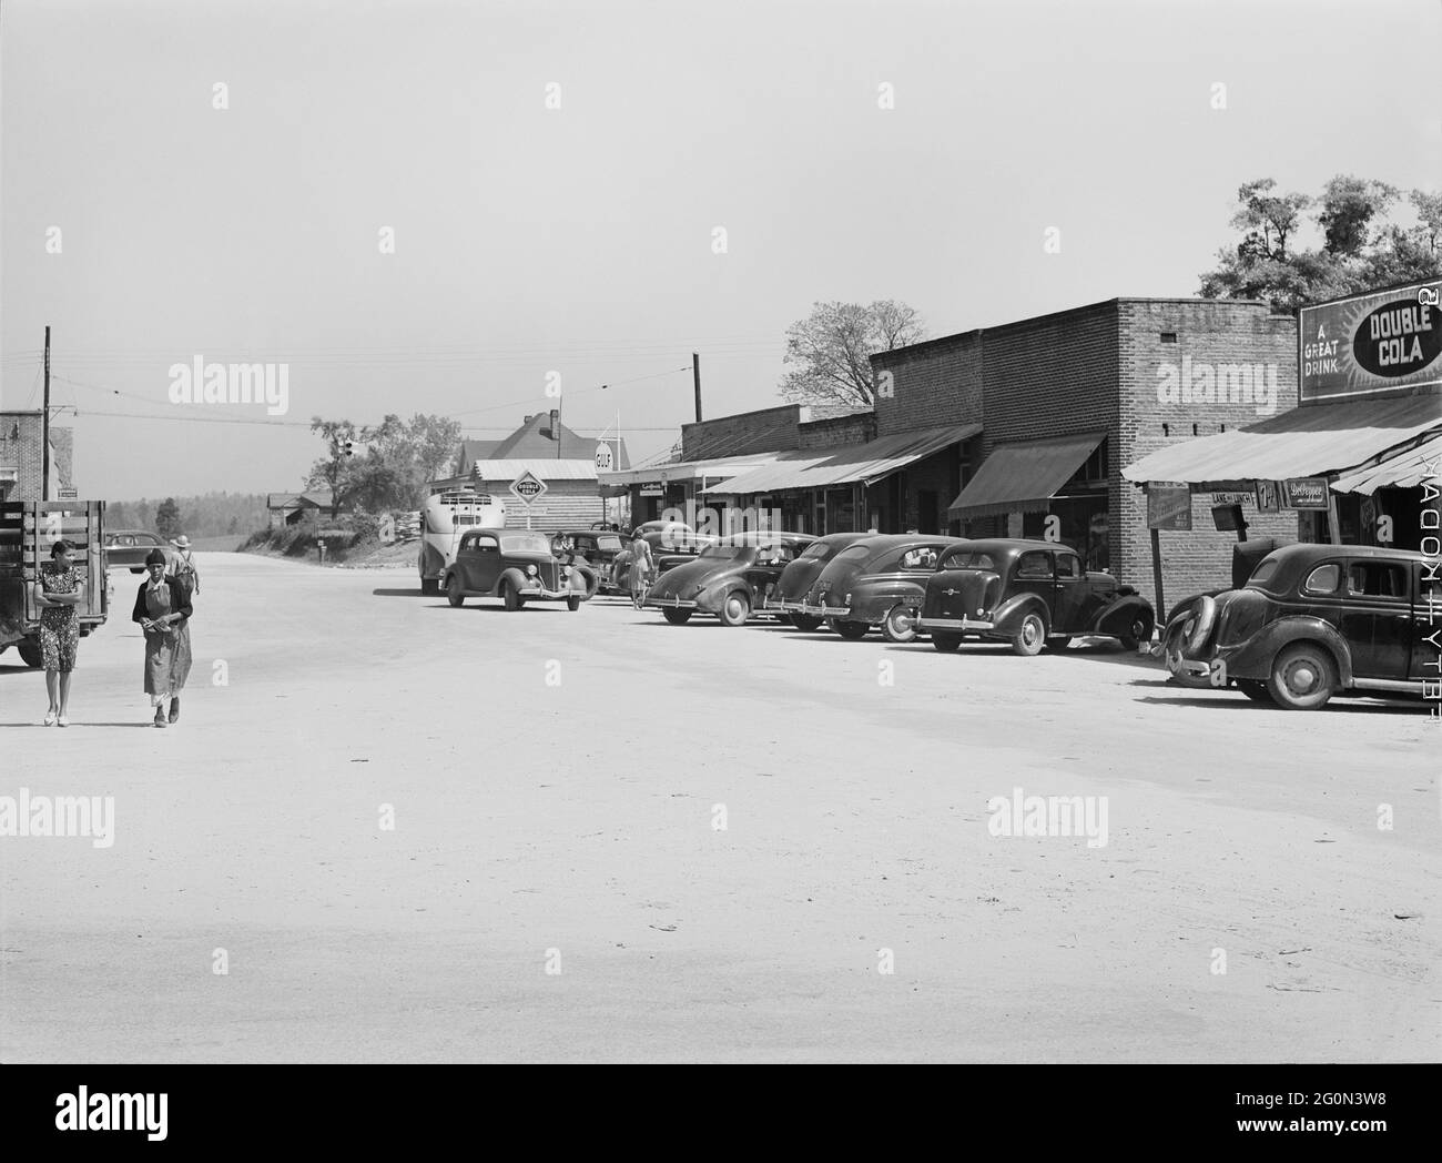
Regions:
[[500, 597], [508, 610], [529, 600], [565, 602], [575, 610], [590, 596], [580, 570], [551, 553], [551, 538], [529, 530], [469, 530], [446, 567], [446, 597]]

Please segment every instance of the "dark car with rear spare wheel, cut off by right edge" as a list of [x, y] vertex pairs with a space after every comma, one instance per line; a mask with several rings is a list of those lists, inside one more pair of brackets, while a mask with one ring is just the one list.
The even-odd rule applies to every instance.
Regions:
[[1420, 695], [1442, 579], [1419, 553], [1285, 545], [1246, 586], [1204, 596], [1168, 625], [1174, 675], [1236, 685], [1255, 703], [1317, 710], [1332, 695]]

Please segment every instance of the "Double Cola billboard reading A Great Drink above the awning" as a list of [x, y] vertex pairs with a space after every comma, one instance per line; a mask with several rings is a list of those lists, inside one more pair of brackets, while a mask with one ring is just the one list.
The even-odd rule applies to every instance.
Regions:
[[1442, 384], [1442, 280], [1302, 307], [1298, 400], [1406, 395]]

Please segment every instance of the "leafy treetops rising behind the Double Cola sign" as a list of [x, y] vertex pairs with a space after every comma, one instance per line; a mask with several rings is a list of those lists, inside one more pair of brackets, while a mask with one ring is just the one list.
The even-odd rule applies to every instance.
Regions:
[[[1384, 182], [1340, 175], [1318, 199], [1275, 188], [1263, 177], [1237, 190], [1231, 227], [1243, 235], [1203, 273], [1204, 297], [1263, 299], [1295, 312], [1302, 303], [1442, 276], [1442, 195], [1412, 190], [1419, 225], [1403, 228], [1387, 221], [1399, 195]], [[1295, 244], [1309, 206], [1322, 242], [1312, 250]]]

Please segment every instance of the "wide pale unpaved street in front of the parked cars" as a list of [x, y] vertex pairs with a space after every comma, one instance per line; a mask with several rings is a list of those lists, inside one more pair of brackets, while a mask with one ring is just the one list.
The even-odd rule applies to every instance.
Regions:
[[[7, 1062], [1442, 1053], [1415, 707], [200, 570], [176, 727], [128, 573], [71, 729], [0, 657], [0, 795], [115, 804], [108, 848], [0, 838]], [[1014, 788], [1106, 796], [1106, 846], [992, 835]]]

